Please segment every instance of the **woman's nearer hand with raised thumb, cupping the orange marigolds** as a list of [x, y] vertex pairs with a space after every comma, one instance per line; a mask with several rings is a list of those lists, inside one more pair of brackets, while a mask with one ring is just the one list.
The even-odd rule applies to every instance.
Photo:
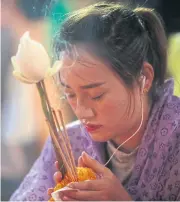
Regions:
[[[78, 166], [91, 168], [99, 176], [97, 180], [70, 183], [68, 187], [78, 189], [76, 192], [61, 192], [63, 201], [128, 201], [132, 200], [116, 176], [85, 152], [79, 158]], [[57, 174], [56, 174], [57, 175]], [[57, 177], [57, 176], [56, 176]]]

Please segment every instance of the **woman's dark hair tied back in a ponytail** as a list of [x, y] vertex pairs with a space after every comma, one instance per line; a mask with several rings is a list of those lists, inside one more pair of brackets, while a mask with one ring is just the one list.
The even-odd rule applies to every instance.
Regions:
[[88, 6], [71, 13], [62, 25], [54, 43], [57, 54], [62, 41], [90, 46], [128, 86], [140, 76], [143, 61], [149, 62], [154, 68], [151, 97], [164, 83], [166, 36], [152, 9], [131, 9], [117, 3]]

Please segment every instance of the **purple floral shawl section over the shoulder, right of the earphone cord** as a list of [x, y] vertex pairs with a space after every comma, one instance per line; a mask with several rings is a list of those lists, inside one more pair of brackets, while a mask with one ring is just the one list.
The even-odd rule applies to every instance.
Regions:
[[180, 98], [169, 80], [153, 107], [128, 184], [135, 200], [180, 197]]

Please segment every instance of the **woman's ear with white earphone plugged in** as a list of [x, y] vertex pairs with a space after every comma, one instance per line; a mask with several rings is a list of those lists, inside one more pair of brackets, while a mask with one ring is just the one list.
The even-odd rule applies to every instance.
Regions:
[[148, 62], [143, 62], [142, 75], [144, 76], [144, 81], [142, 81], [143, 89], [148, 92], [152, 86], [154, 79], [154, 69]]

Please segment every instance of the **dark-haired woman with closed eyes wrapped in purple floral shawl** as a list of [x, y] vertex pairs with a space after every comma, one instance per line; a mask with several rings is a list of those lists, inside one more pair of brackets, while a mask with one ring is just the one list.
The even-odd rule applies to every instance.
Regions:
[[[166, 37], [157, 15], [119, 4], [89, 6], [66, 20], [55, 50], [79, 119], [68, 126], [76, 163], [102, 175], [71, 184], [78, 191], [62, 200], [180, 200], [180, 99], [173, 81], [165, 81]], [[49, 139], [11, 200], [48, 200], [54, 162]]]

